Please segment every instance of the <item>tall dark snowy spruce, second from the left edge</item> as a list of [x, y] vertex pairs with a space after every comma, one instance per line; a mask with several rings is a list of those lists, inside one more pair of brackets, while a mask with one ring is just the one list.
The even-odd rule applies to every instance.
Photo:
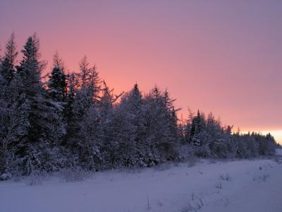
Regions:
[[57, 111], [61, 110], [61, 106], [49, 99], [42, 85], [44, 62], [39, 60], [39, 40], [36, 35], [27, 38], [22, 52], [23, 59], [17, 74], [22, 84], [20, 93], [24, 94], [30, 110], [27, 114], [29, 127], [25, 139], [18, 146], [18, 153], [23, 161], [23, 174], [29, 175], [33, 170], [56, 168], [56, 164], [49, 163], [51, 149], [56, 147], [57, 136], [63, 134], [63, 131], [54, 127], [58, 123]]

